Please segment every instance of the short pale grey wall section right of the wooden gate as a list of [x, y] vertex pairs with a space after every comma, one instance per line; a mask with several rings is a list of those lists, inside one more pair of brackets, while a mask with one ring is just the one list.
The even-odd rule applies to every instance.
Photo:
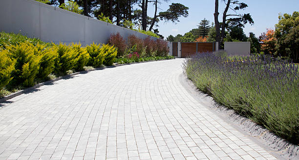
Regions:
[[224, 42], [228, 55], [250, 55], [250, 42]]

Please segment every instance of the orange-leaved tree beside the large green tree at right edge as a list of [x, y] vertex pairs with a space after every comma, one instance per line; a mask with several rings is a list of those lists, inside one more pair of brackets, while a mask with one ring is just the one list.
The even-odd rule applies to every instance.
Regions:
[[274, 55], [275, 53], [275, 42], [276, 38], [274, 37], [275, 30], [272, 28], [267, 28], [267, 32], [263, 32], [259, 36], [261, 44], [261, 51], [263, 51], [265, 54]]

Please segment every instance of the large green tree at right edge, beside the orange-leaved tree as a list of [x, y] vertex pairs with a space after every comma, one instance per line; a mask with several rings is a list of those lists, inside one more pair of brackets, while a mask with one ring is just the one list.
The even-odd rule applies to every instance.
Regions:
[[278, 16], [275, 25], [276, 55], [299, 62], [299, 12]]

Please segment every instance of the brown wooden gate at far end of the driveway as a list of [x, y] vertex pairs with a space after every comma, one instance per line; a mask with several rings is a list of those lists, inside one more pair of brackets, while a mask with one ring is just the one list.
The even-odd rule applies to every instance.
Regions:
[[181, 57], [187, 57], [201, 52], [213, 52], [216, 50], [215, 47], [214, 42], [183, 42], [181, 43]]

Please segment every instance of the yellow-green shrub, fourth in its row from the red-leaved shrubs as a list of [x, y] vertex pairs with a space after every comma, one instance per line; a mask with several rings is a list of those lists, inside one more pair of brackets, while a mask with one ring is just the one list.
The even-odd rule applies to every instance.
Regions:
[[60, 43], [58, 46], [56, 46], [56, 51], [58, 53], [58, 59], [55, 63], [55, 71], [56, 73], [65, 74], [66, 71], [74, 69], [78, 59], [77, 57], [77, 51], [74, 49], [70, 49], [69, 46], [66, 46], [65, 44]]

